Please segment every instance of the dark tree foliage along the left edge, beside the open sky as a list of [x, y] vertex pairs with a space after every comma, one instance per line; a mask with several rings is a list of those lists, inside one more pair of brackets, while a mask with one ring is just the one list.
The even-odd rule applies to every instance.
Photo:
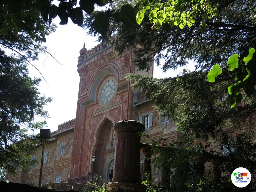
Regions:
[[[27, 167], [30, 152], [38, 142], [30, 135], [46, 124], [44, 105], [51, 101], [38, 92], [39, 78], [28, 76], [27, 65], [33, 65], [38, 54], [46, 52], [41, 45], [45, 35], [55, 30], [40, 16], [33, 0], [1, 1], [0, 7], [0, 167], [15, 173]], [[36, 120], [39, 117], [41, 122]], [[28, 133], [30, 130], [30, 133]]]

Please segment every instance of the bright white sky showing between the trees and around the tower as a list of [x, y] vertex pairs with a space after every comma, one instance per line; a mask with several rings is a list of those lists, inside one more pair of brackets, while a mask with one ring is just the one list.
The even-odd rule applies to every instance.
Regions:
[[[53, 20], [53, 23], [60, 22], [59, 17]], [[65, 123], [76, 117], [76, 105], [79, 87], [79, 74], [77, 72], [77, 60], [79, 51], [84, 45], [86, 49], [99, 44], [97, 37], [86, 35], [83, 28], [78, 27], [69, 19], [67, 25], [58, 25], [56, 32], [46, 37], [44, 46], [48, 47], [50, 52], [61, 65], [56, 62], [52, 56], [42, 54], [39, 60], [32, 62], [36, 68], [44, 76], [46, 82], [42, 80], [39, 91], [48, 97], [52, 97], [52, 102], [44, 107], [49, 112], [47, 126], [51, 132], [58, 129], [58, 125]], [[188, 70], [193, 70], [194, 65], [186, 67]], [[32, 67], [28, 66], [29, 76], [40, 77], [39, 72]], [[163, 73], [160, 67], [154, 64], [154, 77], [164, 78], [176, 76], [183, 68], [177, 70], [168, 70]], [[39, 131], [38, 131], [39, 132]], [[37, 132], [36, 132], [37, 133]]]

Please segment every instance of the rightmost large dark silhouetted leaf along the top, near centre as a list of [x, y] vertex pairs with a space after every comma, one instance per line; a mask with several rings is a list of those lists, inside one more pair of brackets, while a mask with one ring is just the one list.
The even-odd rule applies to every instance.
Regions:
[[127, 4], [127, 5], [123, 5], [121, 7], [121, 20], [124, 23], [124, 25], [126, 26], [135, 26], [137, 25], [136, 23], [136, 13], [134, 8]]

